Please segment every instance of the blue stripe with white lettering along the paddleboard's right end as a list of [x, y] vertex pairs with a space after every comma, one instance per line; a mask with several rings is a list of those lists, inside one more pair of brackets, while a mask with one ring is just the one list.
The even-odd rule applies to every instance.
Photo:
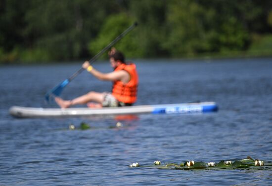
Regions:
[[154, 108], [152, 113], [197, 113], [197, 112], [216, 112], [216, 105], [191, 105], [191, 106], [169, 106]]

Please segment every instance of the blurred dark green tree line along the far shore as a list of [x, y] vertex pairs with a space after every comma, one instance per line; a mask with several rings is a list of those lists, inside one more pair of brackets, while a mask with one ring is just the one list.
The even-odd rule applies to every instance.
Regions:
[[[0, 0], [0, 63], [272, 54], [271, 0]], [[104, 56], [105, 57], [105, 56]]]

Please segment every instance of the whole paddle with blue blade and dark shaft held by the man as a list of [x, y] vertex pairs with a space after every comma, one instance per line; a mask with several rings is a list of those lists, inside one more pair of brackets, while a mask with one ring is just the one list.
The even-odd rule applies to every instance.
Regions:
[[[115, 43], [117, 43], [121, 38], [126, 36], [130, 31], [132, 31], [138, 24], [135, 22], [133, 25], [131, 25], [127, 30], [125, 30], [122, 34], [120, 34], [118, 37], [116, 37], [113, 41], [111, 41], [105, 48], [103, 48], [100, 52], [98, 52], [95, 56], [93, 56], [89, 62], [90, 64], [94, 63], [95, 60], [97, 60], [105, 51], [110, 49]], [[75, 72], [73, 75], [71, 75], [69, 78], [65, 79], [61, 83], [59, 83], [57, 86], [49, 90], [45, 94], [45, 100], [49, 102], [49, 98], [51, 96], [59, 96], [63, 90], [63, 88], [71, 82], [78, 74], [81, 74], [85, 69], [81, 67], [77, 72]]]

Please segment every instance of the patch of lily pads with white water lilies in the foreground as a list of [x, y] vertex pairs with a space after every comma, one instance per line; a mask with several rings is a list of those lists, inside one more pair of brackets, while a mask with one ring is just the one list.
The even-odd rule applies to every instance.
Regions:
[[133, 163], [129, 167], [146, 167], [146, 168], [157, 168], [157, 169], [180, 169], [180, 170], [194, 170], [194, 169], [271, 169], [272, 162], [264, 162], [259, 159], [252, 159], [247, 156], [245, 159], [241, 160], [222, 160], [218, 163], [215, 162], [195, 162], [185, 161], [184, 163], [168, 163], [166, 165], [161, 165], [160, 161], [154, 161], [153, 165], [139, 165], [138, 163]]

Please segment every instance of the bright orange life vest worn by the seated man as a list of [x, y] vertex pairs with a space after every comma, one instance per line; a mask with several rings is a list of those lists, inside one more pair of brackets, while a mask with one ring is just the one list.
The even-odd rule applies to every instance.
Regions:
[[113, 81], [112, 95], [119, 101], [125, 104], [133, 104], [137, 99], [138, 74], [136, 72], [136, 65], [121, 64], [114, 71], [127, 71], [131, 79], [128, 83], [123, 83], [120, 80]]

